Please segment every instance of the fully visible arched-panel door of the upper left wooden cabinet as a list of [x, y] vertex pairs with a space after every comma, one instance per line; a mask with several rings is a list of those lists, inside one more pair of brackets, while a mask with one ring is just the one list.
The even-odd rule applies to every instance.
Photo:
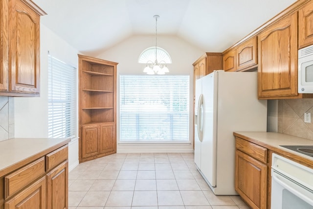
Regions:
[[25, 1], [9, 2], [9, 91], [39, 94], [40, 16]]

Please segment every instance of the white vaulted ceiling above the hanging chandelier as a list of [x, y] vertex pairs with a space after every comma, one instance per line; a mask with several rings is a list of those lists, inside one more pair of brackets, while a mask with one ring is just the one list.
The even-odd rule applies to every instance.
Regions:
[[222, 52], [296, 0], [34, 0], [42, 23], [81, 52], [104, 51], [133, 35], [174, 35]]

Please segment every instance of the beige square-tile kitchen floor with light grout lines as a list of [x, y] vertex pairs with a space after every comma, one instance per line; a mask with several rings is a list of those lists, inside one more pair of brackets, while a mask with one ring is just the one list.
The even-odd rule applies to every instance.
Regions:
[[248, 209], [216, 196], [191, 153], [114, 154], [69, 173], [69, 209]]

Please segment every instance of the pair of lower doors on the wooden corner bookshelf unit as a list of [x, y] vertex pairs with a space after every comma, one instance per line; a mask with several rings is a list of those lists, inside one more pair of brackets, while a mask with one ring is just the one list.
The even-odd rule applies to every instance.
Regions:
[[80, 162], [116, 152], [115, 123], [94, 123], [82, 126]]

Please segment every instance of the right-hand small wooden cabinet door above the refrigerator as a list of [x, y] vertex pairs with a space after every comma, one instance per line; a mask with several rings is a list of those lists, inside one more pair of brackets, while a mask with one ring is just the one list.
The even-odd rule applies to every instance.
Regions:
[[242, 43], [237, 48], [237, 70], [243, 70], [256, 65], [257, 41], [256, 36]]

